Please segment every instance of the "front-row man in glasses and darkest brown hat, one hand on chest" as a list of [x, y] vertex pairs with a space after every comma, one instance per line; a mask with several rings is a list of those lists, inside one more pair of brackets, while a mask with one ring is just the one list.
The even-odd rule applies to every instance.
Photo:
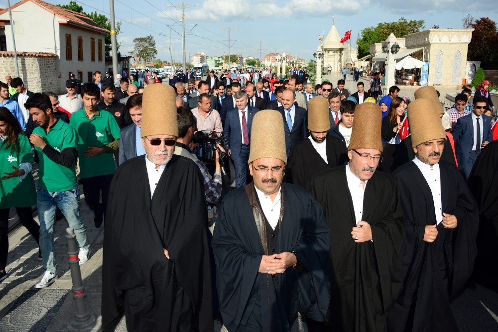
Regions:
[[380, 107], [355, 109], [349, 163], [311, 177], [331, 233], [334, 272], [325, 331], [385, 331], [401, 287], [403, 212], [394, 179], [377, 172]]

